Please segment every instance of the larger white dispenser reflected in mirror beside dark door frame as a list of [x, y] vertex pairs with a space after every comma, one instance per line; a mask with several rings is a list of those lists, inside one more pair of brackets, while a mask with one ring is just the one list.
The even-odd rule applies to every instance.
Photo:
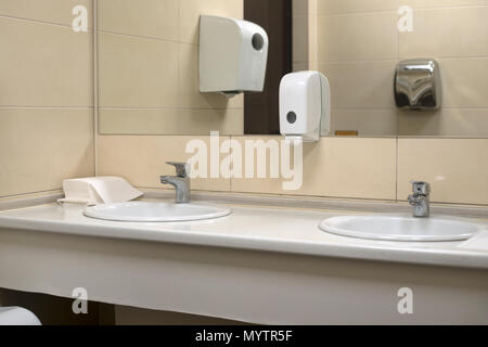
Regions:
[[200, 20], [200, 91], [233, 97], [262, 91], [268, 35], [260, 26], [234, 18]]

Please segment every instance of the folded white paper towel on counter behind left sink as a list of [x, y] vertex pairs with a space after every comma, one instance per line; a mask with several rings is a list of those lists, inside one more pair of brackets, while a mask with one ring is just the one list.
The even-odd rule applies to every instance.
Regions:
[[120, 177], [89, 177], [65, 180], [60, 203], [87, 205], [125, 203], [143, 195]]

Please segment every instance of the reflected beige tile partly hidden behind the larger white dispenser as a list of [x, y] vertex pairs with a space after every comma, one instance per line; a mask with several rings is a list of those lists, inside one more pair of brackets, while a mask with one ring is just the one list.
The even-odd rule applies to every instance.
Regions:
[[219, 93], [201, 93], [198, 79], [198, 47], [180, 43], [179, 92], [180, 107], [243, 108], [244, 94], [227, 98]]

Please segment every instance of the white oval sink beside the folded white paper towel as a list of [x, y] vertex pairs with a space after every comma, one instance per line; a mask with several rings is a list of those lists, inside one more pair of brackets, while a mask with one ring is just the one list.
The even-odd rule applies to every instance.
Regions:
[[88, 207], [84, 215], [113, 221], [169, 222], [213, 219], [228, 216], [231, 213], [232, 210], [228, 207], [211, 204], [129, 202]]

